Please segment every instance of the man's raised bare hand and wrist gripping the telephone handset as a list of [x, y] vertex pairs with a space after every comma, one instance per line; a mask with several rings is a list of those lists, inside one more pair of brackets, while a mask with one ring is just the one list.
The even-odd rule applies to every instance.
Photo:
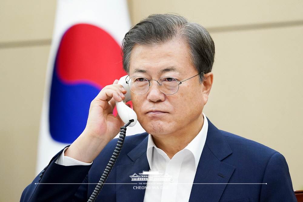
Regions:
[[124, 125], [119, 116], [112, 112], [115, 101], [122, 101], [126, 90], [115, 80], [105, 86], [91, 102], [86, 127], [82, 134], [65, 151], [65, 156], [91, 163], [106, 144], [111, 141]]

